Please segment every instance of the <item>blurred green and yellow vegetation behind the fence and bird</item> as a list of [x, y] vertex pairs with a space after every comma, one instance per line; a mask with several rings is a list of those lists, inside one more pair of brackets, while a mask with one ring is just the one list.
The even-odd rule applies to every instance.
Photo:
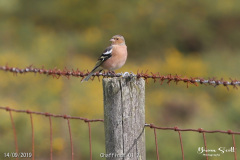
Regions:
[[[0, 65], [91, 70], [115, 34], [125, 37], [129, 58], [117, 72], [149, 70], [162, 75], [240, 79], [240, 1], [0, 0]], [[0, 73], [0, 105], [86, 118], [103, 118], [102, 84], [43, 75]], [[240, 131], [239, 90], [186, 84], [146, 84], [146, 123], [179, 128]], [[7, 112], [0, 112], [0, 157], [14, 152]], [[31, 152], [29, 117], [13, 113], [19, 151]], [[37, 159], [49, 158], [48, 118], [34, 116]], [[88, 128], [71, 121], [75, 158], [88, 159]], [[105, 153], [103, 124], [92, 124], [93, 158]], [[178, 134], [158, 131], [161, 159], [180, 159]], [[202, 135], [182, 133], [186, 159]], [[147, 159], [156, 159], [146, 129]], [[233, 146], [231, 135], [207, 134], [209, 149]], [[240, 138], [236, 136], [236, 145]], [[54, 159], [69, 159], [67, 122], [53, 119]], [[225, 153], [211, 159], [230, 159]]]

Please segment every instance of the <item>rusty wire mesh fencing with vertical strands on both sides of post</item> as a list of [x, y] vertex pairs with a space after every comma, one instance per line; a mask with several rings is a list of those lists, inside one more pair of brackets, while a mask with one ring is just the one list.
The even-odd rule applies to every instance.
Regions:
[[[47, 113], [47, 112], [36, 112], [36, 111], [30, 111], [30, 110], [19, 110], [19, 109], [13, 109], [10, 107], [2, 107], [0, 106], [0, 110], [5, 110], [9, 112], [10, 119], [11, 119], [11, 125], [13, 129], [13, 134], [14, 134], [14, 142], [15, 142], [15, 150], [16, 153], [19, 152], [18, 149], [18, 141], [17, 141], [17, 132], [12, 116], [12, 112], [16, 113], [25, 113], [30, 115], [30, 121], [31, 121], [31, 132], [32, 132], [32, 159], [34, 160], [34, 121], [33, 121], [33, 115], [40, 115], [40, 116], [45, 116], [49, 118], [49, 126], [50, 126], [50, 159], [52, 160], [53, 158], [53, 145], [52, 145], [52, 140], [53, 140], [53, 133], [52, 133], [52, 117], [54, 118], [63, 118], [67, 120], [67, 125], [68, 125], [68, 130], [69, 130], [69, 138], [70, 138], [70, 146], [71, 146], [71, 159], [74, 159], [74, 152], [73, 152], [73, 138], [72, 138], [72, 131], [71, 131], [71, 125], [70, 125], [70, 120], [71, 119], [76, 119], [76, 120], [81, 120], [84, 121], [88, 124], [88, 133], [89, 133], [89, 153], [90, 153], [90, 160], [92, 160], [92, 138], [91, 138], [91, 123], [92, 122], [103, 122], [103, 119], [88, 119], [88, 118], [83, 118], [83, 117], [74, 117], [74, 116], [69, 116], [69, 115], [59, 115], [59, 114], [52, 114], [52, 113]], [[184, 147], [183, 147], [183, 141], [182, 141], [182, 132], [198, 132], [203, 135], [203, 141], [204, 141], [204, 148], [206, 150], [206, 159], [208, 160], [208, 154], [207, 154], [207, 139], [206, 139], [206, 134], [214, 134], [214, 133], [221, 133], [221, 134], [228, 134], [232, 136], [232, 142], [233, 142], [233, 147], [236, 148], [236, 141], [235, 141], [235, 135], [240, 135], [240, 132], [234, 132], [232, 130], [204, 130], [202, 128], [199, 129], [181, 129], [178, 127], [159, 127], [155, 126], [154, 124], [145, 124], [145, 128], [149, 127], [153, 129], [154, 132], [154, 139], [155, 139], [155, 146], [156, 146], [156, 156], [157, 159], [159, 160], [159, 151], [158, 151], [158, 141], [157, 141], [157, 131], [156, 130], [172, 130], [175, 132], [178, 132], [179, 135], [179, 141], [180, 141], [180, 146], [181, 146], [181, 153], [182, 153], [182, 159], [184, 160]], [[237, 153], [236, 150], [234, 150], [234, 158], [237, 160]], [[18, 157], [16, 157], [18, 159]]]

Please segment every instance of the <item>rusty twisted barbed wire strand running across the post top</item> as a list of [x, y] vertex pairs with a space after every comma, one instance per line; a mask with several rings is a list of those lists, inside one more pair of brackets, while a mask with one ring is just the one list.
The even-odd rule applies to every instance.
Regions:
[[[87, 70], [80, 71], [79, 69], [67, 69], [64, 68], [63, 70], [54, 68], [54, 69], [45, 69], [44, 67], [42, 68], [35, 68], [32, 65], [28, 66], [26, 68], [18, 68], [18, 67], [9, 67], [8, 65], [5, 66], [0, 66], [0, 70], [6, 71], [6, 72], [12, 72], [14, 74], [26, 74], [26, 73], [35, 73], [35, 74], [44, 74], [44, 75], [50, 75], [53, 76], [53, 78], [60, 78], [61, 76], [70, 78], [72, 77], [78, 77], [81, 78], [81, 80], [86, 77], [90, 72]], [[124, 76], [123, 73], [112, 73], [112, 72], [102, 72], [102, 73], [95, 73], [93, 74], [91, 80], [94, 80], [96, 77], [100, 81], [100, 77], [121, 77]], [[130, 73], [128, 76], [133, 76], [137, 78], [144, 78], [146, 82], [148, 82], [149, 79], [153, 80], [154, 83], [159, 82], [160, 84], [163, 84], [164, 81], [166, 81], [167, 84], [170, 85], [171, 82], [175, 82], [178, 84], [179, 82], [184, 82], [187, 84], [187, 87], [189, 84], [193, 84], [195, 86], [198, 86], [198, 84], [204, 84], [204, 85], [210, 85], [217, 87], [219, 85], [222, 85], [226, 87], [229, 90], [229, 86], [233, 86], [234, 89], [238, 89], [237, 86], [240, 86], [240, 81], [239, 80], [234, 80], [232, 78], [229, 78], [230, 81], [225, 81], [223, 78], [217, 79], [216, 77], [213, 78], [200, 78], [200, 77], [186, 77], [186, 76], [181, 76], [181, 75], [161, 75], [159, 72], [153, 73], [149, 72], [148, 70], [146, 71], [137, 71], [137, 74]]]

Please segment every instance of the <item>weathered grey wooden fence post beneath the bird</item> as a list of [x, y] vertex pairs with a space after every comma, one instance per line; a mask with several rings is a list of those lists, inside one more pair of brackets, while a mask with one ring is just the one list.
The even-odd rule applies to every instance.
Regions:
[[145, 81], [136, 77], [103, 79], [107, 160], [146, 160]]

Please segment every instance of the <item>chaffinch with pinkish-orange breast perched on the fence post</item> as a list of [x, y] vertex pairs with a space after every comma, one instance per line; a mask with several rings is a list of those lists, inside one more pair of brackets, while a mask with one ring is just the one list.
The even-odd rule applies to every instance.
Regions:
[[127, 46], [124, 37], [115, 35], [110, 41], [112, 44], [103, 51], [93, 70], [82, 80], [82, 82], [88, 81], [89, 78], [98, 71], [101, 72], [104, 69], [114, 71], [125, 64], [127, 60]]

